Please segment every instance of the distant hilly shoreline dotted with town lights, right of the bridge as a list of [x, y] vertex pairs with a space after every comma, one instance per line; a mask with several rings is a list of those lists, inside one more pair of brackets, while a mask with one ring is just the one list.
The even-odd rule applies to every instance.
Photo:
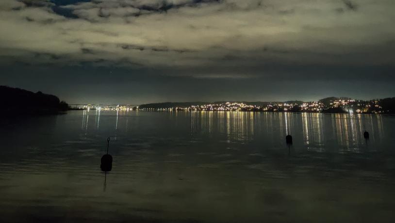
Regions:
[[143, 111], [246, 111], [246, 112], [313, 112], [313, 113], [395, 113], [395, 97], [357, 100], [327, 97], [318, 101], [285, 102], [165, 102], [136, 107]]

